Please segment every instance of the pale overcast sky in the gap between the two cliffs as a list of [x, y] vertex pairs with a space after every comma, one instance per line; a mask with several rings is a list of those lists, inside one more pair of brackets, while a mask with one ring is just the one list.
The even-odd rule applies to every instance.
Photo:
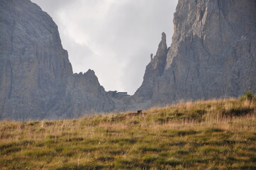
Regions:
[[94, 69], [106, 91], [134, 94], [177, 0], [32, 0], [52, 16], [74, 72]]

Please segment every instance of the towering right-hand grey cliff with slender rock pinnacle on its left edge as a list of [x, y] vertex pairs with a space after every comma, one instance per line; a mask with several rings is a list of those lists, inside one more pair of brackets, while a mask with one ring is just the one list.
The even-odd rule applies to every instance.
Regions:
[[155, 106], [256, 92], [255, 9], [255, 0], [179, 0], [172, 45], [166, 53], [160, 42], [135, 96]]

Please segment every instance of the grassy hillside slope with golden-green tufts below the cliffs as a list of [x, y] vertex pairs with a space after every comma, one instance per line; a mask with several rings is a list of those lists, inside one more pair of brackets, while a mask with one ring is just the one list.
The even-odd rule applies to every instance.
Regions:
[[0, 169], [256, 169], [256, 103], [0, 122]]

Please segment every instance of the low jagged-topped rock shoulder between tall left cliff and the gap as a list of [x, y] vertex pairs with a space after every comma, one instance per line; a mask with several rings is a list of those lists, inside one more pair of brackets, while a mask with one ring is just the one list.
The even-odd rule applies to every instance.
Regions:
[[115, 104], [99, 84], [93, 70], [74, 74], [66, 90], [67, 108], [60, 117], [79, 118], [82, 115], [113, 111]]

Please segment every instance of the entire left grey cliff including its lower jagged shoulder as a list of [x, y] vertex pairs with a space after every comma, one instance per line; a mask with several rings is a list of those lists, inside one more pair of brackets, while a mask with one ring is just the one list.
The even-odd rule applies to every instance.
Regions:
[[73, 74], [56, 24], [29, 0], [0, 1], [0, 119], [73, 118], [109, 111], [93, 71]]

